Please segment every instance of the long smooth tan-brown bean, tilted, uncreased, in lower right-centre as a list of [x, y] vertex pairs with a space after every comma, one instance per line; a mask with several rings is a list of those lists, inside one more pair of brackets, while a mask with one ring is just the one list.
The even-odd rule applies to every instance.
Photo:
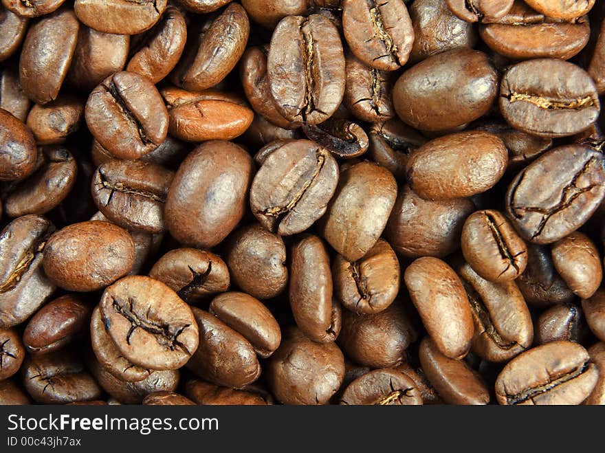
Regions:
[[474, 334], [470, 302], [459, 276], [439, 258], [417, 258], [404, 273], [406, 287], [439, 351], [461, 359]]

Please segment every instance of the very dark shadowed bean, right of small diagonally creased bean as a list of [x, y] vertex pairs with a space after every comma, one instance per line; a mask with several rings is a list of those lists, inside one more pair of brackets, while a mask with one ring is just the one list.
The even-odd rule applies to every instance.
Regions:
[[571, 302], [574, 294], [557, 273], [548, 247], [527, 245], [527, 267], [517, 283], [531, 305], [555, 305]]

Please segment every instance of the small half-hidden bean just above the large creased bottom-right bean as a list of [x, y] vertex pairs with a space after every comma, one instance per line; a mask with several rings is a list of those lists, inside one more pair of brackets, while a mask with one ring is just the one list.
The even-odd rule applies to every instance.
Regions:
[[580, 307], [571, 303], [555, 305], [542, 311], [536, 321], [536, 344], [562, 340], [579, 343], [585, 340], [587, 328]]

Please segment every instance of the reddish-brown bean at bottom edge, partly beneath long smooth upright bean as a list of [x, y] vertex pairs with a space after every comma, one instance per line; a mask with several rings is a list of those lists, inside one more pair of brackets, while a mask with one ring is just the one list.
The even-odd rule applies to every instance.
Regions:
[[423, 338], [420, 363], [426, 377], [448, 404], [483, 405], [489, 403], [489, 390], [476, 371], [463, 360], [454, 360], [439, 351], [430, 337]]

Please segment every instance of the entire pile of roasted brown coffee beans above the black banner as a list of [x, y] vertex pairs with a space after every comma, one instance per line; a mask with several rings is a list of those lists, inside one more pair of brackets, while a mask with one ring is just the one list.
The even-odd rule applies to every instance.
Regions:
[[1, 0], [0, 404], [605, 404], [604, 19]]

